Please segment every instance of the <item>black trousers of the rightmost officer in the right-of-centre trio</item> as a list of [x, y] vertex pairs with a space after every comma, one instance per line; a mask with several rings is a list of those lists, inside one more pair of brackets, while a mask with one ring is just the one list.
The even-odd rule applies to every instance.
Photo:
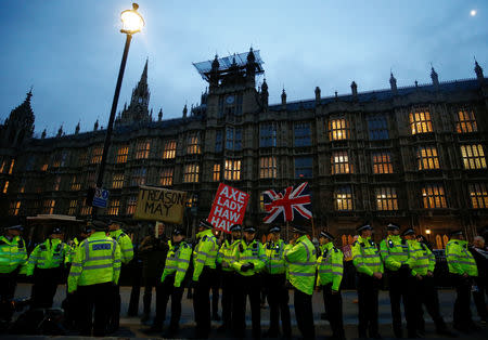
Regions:
[[434, 285], [434, 277], [423, 276], [421, 280], [416, 282], [415, 290], [419, 296], [418, 312], [415, 313], [418, 316], [418, 328], [422, 331], [425, 330], [424, 312], [422, 310], [422, 305], [425, 305], [428, 315], [431, 315], [434, 324], [436, 325], [436, 329], [438, 331], [445, 330], [447, 327], [442, 316], [440, 315], [439, 297]]

